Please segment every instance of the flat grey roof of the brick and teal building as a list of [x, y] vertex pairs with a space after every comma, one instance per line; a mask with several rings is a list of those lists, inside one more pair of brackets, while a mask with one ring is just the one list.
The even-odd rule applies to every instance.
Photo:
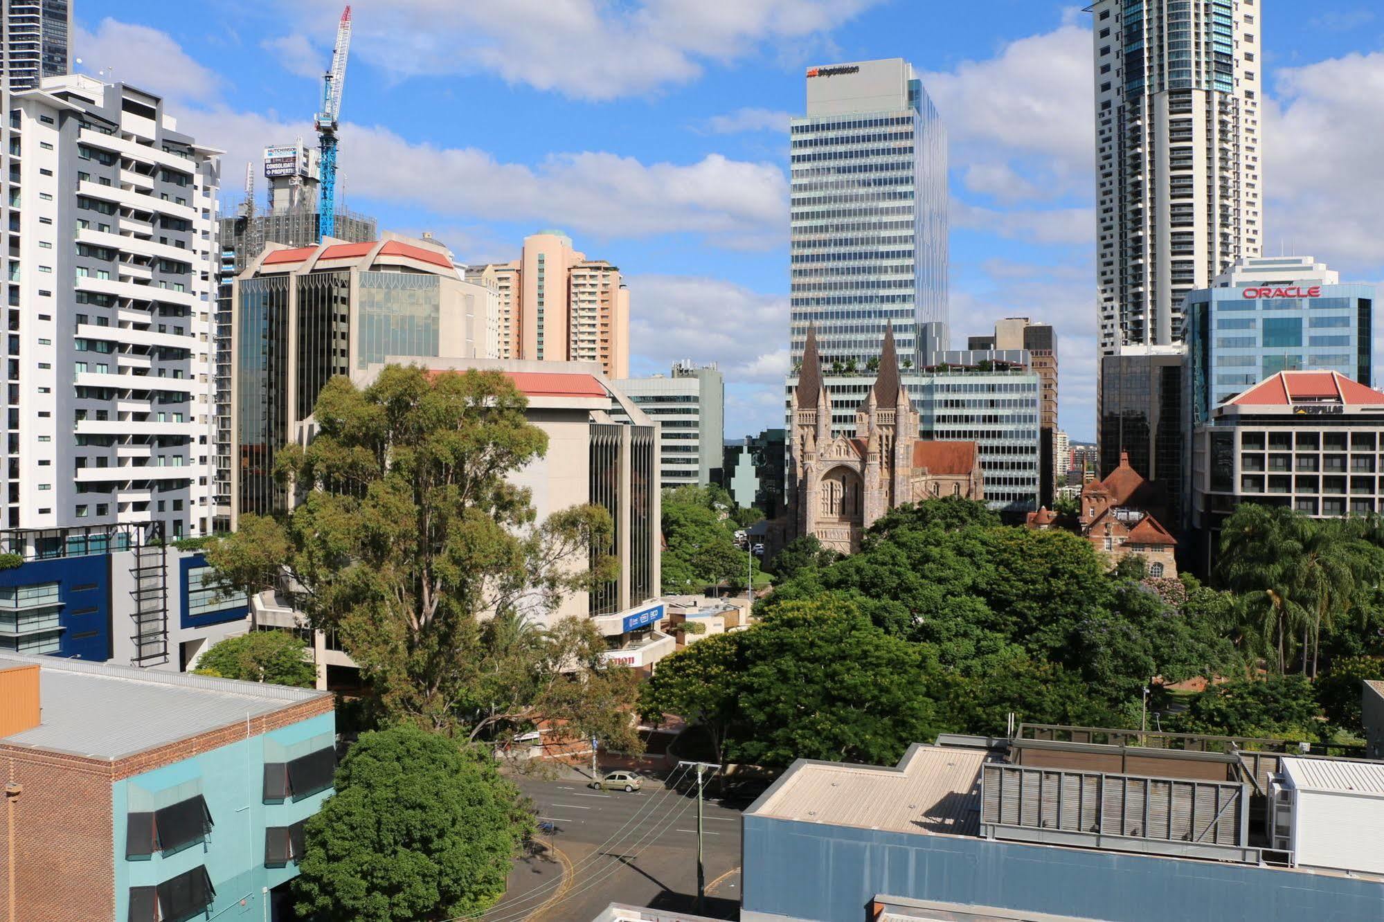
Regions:
[[125, 759], [331, 694], [51, 656], [0, 655], [0, 663], [10, 662], [39, 665], [42, 723], [0, 742], [91, 759]]

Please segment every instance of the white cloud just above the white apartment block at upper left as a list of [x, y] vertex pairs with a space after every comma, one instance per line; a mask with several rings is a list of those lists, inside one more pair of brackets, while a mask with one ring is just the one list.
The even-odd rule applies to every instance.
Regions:
[[78, 26], [72, 36], [84, 73], [129, 83], [177, 101], [208, 102], [221, 78], [190, 58], [166, 32], [107, 17], [95, 32]]

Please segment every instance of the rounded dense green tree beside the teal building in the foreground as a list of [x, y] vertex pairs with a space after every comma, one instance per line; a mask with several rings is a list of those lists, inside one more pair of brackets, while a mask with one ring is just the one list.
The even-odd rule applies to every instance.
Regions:
[[296, 910], [320, 922], [412, 922], [480, 912], [505, 892], [533, 832], [484, 750], [400, 725], [368, 732], [307, 821]]

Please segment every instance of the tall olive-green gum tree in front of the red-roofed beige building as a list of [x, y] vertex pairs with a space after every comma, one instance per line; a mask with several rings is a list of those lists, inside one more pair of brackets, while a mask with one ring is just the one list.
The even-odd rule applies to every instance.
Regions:
[[[300, 503], [280, 519], [245, 516], [206, 558], [248, 591], [292, 586], [298, 608], [336, 631], [394, 718], [473, 730], [495, 669], [551, 678], [552, 663], [567, 662], [569, 699], [603, 692], [612, 685], [601, 678], [624, 667], [588, 655], [599, 642], [590, 623], [552, 635], [565, 651], [537, 644], [523, 663], [482, 629], [489, 616], [552, 611], [616, 575], [599, 551], [613, 533], [605, 509], [574, 507], [540, 523], [527, 490], [509, 480], [547, 450], [525, 406], [495, 371], [392, 365], [364, 389], [334, 378], [314, 410], [318, 435], [277, 462]], [[537, 685], [559, 689], [556, 680]], [[536, 720], [533, 703], [507, 713]], [[598, 695], [577, 710], [606, 703]]]

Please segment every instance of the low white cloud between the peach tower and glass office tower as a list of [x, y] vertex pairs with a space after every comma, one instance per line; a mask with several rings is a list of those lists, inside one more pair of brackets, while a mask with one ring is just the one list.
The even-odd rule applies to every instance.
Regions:
[[787, 295], [720, 278], [631, 275], [630, 352], [655, 370], [717, 361], [728, 382], [783, 385]]

